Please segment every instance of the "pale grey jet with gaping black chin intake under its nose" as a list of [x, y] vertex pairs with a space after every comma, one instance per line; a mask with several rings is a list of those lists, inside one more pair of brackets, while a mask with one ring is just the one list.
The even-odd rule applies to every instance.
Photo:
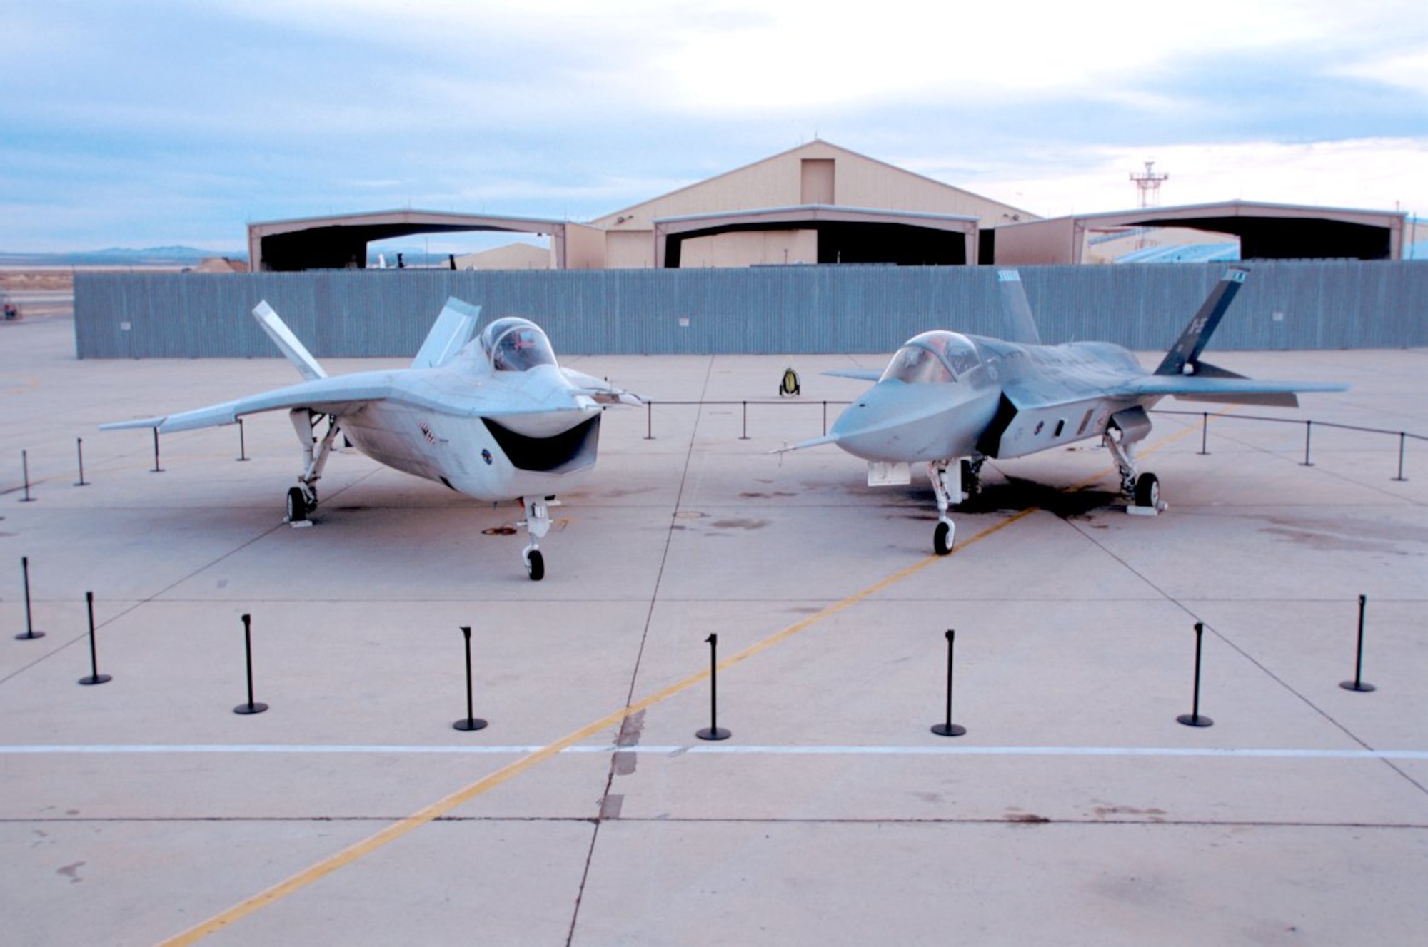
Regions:
[[[603, 405], [641, 404], [608, 382], [561, 368], [550, 339], [528, 319], [493, 321], [473, 339], [480, 307], [447, 300], [411, 368], [330, 378], [267, 302], [253, 309], [306, 381], [210, 408], [101, 429], [191, 431], [261, 411], [287, 409], [303, 448], [303, 472], [287, 492], [287, 519], [308, 522], [317, 481], [338, 434], [390, 468], [483, 501], [520, 499], [531, 579], [545, 575], [538, 539], [550, 503], [595, 465]], [[324, 428], [326, 425], [326, 428]]]

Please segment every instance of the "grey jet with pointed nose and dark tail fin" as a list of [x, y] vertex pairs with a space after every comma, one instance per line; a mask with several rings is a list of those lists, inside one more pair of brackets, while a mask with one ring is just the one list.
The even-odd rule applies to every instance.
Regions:
[[[910, 465], [927, 464], [937, 493], [932, 549], [952, 551], [948, 509], [978, 492], [987, 458], [1017, 458], [1100, 436], [1115, 458], [1128, 512], [1162, 509], [1154, 474], [1135, 465], [1135, 446], [1151, 429], [1147, 408], [1161, 398], [1292, 408], [1297, 391], [1345, 391], [1345, 385], [1255, 381], [1200, 361], [1221, 317], [1240, 291], [1245, 270], [1228, 270], [1174, 348], [1147, 372], [1111, 342], [1042, 345], [1021, 275], [997, 274], [1007, 321], [1005, 339], [922, 332], [892, 355], [881, 375], [847, 408], [828, 434], [788, 449], [837, 444], [868, 461], [870, 485], [910, 482]], [[955, 471], [955, 474], [954, 474]]]

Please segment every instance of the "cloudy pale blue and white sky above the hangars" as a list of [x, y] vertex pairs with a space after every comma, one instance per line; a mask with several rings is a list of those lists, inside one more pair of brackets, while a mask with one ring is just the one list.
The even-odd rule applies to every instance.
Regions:
[[1045, 217], [1148, 158], [1165, 205], [1428, 215], [1424, 0], [4, 0], [0, 37], [0, 251], [590, 220], [815, 137]]

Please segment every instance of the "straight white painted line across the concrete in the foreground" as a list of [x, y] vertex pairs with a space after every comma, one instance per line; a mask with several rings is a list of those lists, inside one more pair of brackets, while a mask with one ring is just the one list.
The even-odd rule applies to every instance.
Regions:
[[[64, 756], [86, 753], [331, 753], [331, 754], [481, 754], [520, 756], [540, 746], [461, 746], [461, 744], [286, 744], [286, 743], [163, 743], [110, 744], [30, 744], [0, 746], [0, 756]], [[1278, 747], [1174, 747], [1174, 746], [568, 746], [560, 753], [641, 753], [653, 756], [1164, 756], [1218, 759], [1297, 759], [1297, 760], [1428, 760], [1428, 750], [1315, 750]]]

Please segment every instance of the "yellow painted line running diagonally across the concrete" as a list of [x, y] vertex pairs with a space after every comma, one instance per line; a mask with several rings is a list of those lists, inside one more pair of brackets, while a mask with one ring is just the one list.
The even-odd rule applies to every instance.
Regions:
[[[1161, 441], [1154, 448], [1148, 448], [1145, 451], [1145, 454], [1148, 454], [1148, 452], [1151, 452], [1151, 451], [1154, 451], [1154, 449], [1157, 449], [1160, 446], [1164, 446], [1167, 444], [1171, 444], [1172, 441], [1185, 436], [1188, 432], [1191, 432], [1194, 429], [1195, 429], [1194, 426], [1185, 428], [1184, 431], [1180, 431], [1178, 434], [1171, 435], [1170, 438]], [[1100, 479], [1104, 475], [1105, 475], [1105, 471], [1102, 471], [1101, 474], [1097, 474], [1094, 478], [1085, 481], [1082, 485], [1092, 483], [1092, 482], [1095, 482], [1097, 479]], [[1078, 485], [1078, 486], [1081, 486], [1081, 485]], [[1017, 522], [1025, 519], [1027, 516], [1030, 516], [1031, 513], [1035, 513], [1038, 511], [1040, 511], [1038, 506], [1030, 506], [1030, 508], [1027, 508], [1027, 509], [1024, 509], [1024, 511], [1021, 511], [1018, 513], [1014, 513], [1012, 516], [1001, 521], [1000, 523], [995, 523], [992, 526], [988, 526], [987, 529], [982, 529], [981, 532], [978, 532], [975, 536], [972, 536], [967, 542], [954, 546], [954, 552], [960, 551], [960, 549], [967, 549], [972, 543], [981, 542], [982, 539], [987, 539], [988, 536], [992, 536], [992, 535], [1001, 532], [1002, 529], [1007, 529], [1012, 523], [1017, 523]], [[833, 605], [830, 605], [830, 606], [827, 606], [827, 608], [815, 612], [814, 615], [810, 615], [808, 618], [803, 619], [801, 622], [795, 622], [794, 625], [790, 625], [788, 628], [783, 629], [781, 632], [775, 632], [774, 635], [770, 635], [768, 638], [765, 638], [765, 639], [763, 639], [760, 642], [755, 642], [754, 645], [750, 645], [748, 647], [743, 649], [741, 652], [738, 652], [738, 653], [735, 653], [735, 655], [733, 655], [730, 657], [725, 657], [724, 660], [721, 660], [718, 663], [718, 669], [723, 670], [725, 667], [733, 667], [734, 665], [738, 665], [740, 662], [748, 660], [750, 657], [753, 657], [753, 656], [755, 656], [755, 655], [758, 655], [761, 652], [768, 650], [774, 645], [785, 642], [790, 638], [798, 635], [800, 632], [808, 630], [810, 628], [813, 628], [818, 622], [824, 620], [825, 618], [831, 618], [833, 615], [837, 615], [837, 613], [840, 613], [840, 612], [843, 612], [843, 610], [845, 610], [845, 609], [848, 609], [848, 608], [851, 608], [851, 606], [863, 602], [864, 599], [867, 599], [870, 596], [874, 596], [878, 592], [883, 592], [883, 590], [885, 590], [885, 589], [897, 585], [898, 582], [902, 582], [904, 579], [917, 575], [918, 572], [921, 572], [927, 566], [932, 565], [934, 562], [940, 562], [941, 559], [942, 559], [942, 556], [927, 556], [921, 562], [915, 562], [911, 566], [902, 569], [901, 572], [895, 572], [895, 573], [890, 575], [888, 578], [883, 579], [881, 582], [870, 585], [868, 588], [863, 589], [861, 592], [850, 595], [848, 598], [843, 599], [841, 602], [834, 602]], [[463, 804], [471, 802], [477, 796], [481, 796], [481, 794], [484, 794], [484, 793], [496, 789], [497, 786], [501, 786], [503, 783], [506, 783], [506, 782], [508, 782], [508, 780], [520, 776], [526, 770], [533, 769], [534, 766], [537, 766], [540, 763], [544, 763], [545, 760], [548, 760], [553, 756], [561, 753], [563, 750], [565, 750], [565, 749], [568, 749], [568, 747], [571, 747], [571, 746], [574, 746], [574, 744], [577, 744], [577, 743], [580, 743], [583, 740], [590, 739], [595, 733], [600, 733], [601, 730], [604, 730], [607, 727], [615, 727], [617, 725], [623, 723], [625, 717], [633, 716], [635, 713], [640, 713], [641, 710], [647, 710], [648, 707], [653, 707], [657, 703], [668, 700], [670, 697], [673, 697], [673, 696], [675, 696], [678, 693], [683, 693], [684, 690], [688, 690], [694, 685], [698, 685], [698, 683], [707, 680], [708, 676], [710, 676], [710, 670], [707, 670], [707, 669], [701, 670], [698, 673], [690, 675], [690, 676], [684, 677], [683, 680], [678, 680], [678, 682], [670, 685], [668, 687], [664, 687], [663, 690], [658, 690], [658, 692], [655, 692], [655, 693], [644, 697], [643, 700], [640, 700], [637, 703], [633, 703], [633, 705], [630, 705], [627, 707], [621, 707], [620, 710], [614, 710], [611, 713], [607, 713], [605, 716], [600, 717], [598, 720], [594, 720], [593, 723], [587, 723], [585, 726], [580, 727], [578, 730], [575, 730], [575, 732], [573, 732], [573, 733], [570, 733], [570, 734], [567, 734], [567, 736], [555, 740], [554, 743], [550, 743], [550, 744], [547, 744], [547, 746], [536, 750], [534, 753], [530, 753], [528, 756], [523, 756], [521, 759], [518, 759], [518, 760], [516, 760], [516, 762], [513, 762], [513, 763], [510, 763], [507, 766], [503, 766], [501, 769], [496, 770], [490, 776], [486, 776], [486, 777], [483, 777], [483, 779], [471, 783], [470, 786], [466, 786], [464, 789], [458, 789], [457, 792], [451, 793], [450, 796], [446, 796], [446, 797], [443, 797], [443, 799], [431, 803], [430, 806], [426, 806], [424, 809], [420, 809], [420, 810], [414, 812], [413, 814], [407, 816], [406, 819], [387, 826], [386, 829], [383, 829], [377, 834], [368, 836], [367, 839], [363, 839], [361, 841], [357, 841], [357, 843], [354, 843], [354, 844], [343, 849], [341, 851], [338, 851], [338, 853], [336, 853], [333, 856], [328, 856], [327, 859], [323, 859], [317, 864], [313, 864], [311, 867], [308, 867], [308, 869], [306, 869], [303, 871], [298, 871], [297, 874], [294, 874], [293, 877], [287, 879], [286, 881], [280, 881], [278, 884], [274, 884], [273, 887], [270, 887], [270, 889], [267, 889], [264, 891], [260, 891], [258, 894], [254, 894], [253, 897], [250, 897], [250, 899], [247, 899], [247, 900], [244, 900], [244, 901], [241, 901], [238, 904], [234, 904], [228, 910], [226, 910], [226, 911], [223, 911], [220, 914], [216, 914], [216, 916], [210, 917], [208, 920], [206, 920], [206, 921], [203, 921], [203, 923], [200, 923], [200, 924], [197, 924], [194, 927], [190, 927], [188, 930], [183, 931], [181, 934], [177, 934], [177, 936], [174, 936], [174, 937], [171, 937], [171, 938], [169, 938], [166, 941], [161, 941], [160, 947], [184, 947], [186, 944], [194, 944], [194, 943], [203, 940], [204, 937], [207, 937], [208, 934], [214, 934], [214, 933], [217, 933], [217, 931], [220, 931], [220, 930], [231, 926], [233, 923], [236, 923], [238, 920], [243, 920], [248, 914], [254, 914], [254, 913], [263, 910], [264, 907], [268, 907], [270, 904], [276, 904], [277, 901], [281, 901], [283, 899], [286, 899], [288, 894], [294, 894], [294, 893], [303, 890], [304, 887], [307, 887], [308, 884], [311, 884], [314, 881], [318, 881], [318, 880], [327, 877], [328, 874], [337, 871], [338, 869], [346, 867], [346, 866], [351, 864], [353, 861], [357, 861], [358, 859], [361, 859], [361, 857], [367, 856], [367, 854], [371, 854], [373, 851], [376, 851], [377, 849], [386, 846], [387, 843], [396, 841], [397, 839], [401, 839], [403, 836], [406, 836], [407, 833], [413, 831], [414, 829], [420, 829], [421, 826], [424, 826], [424, 824], [427, 824], [430, 821], [434, 821], [434, 820], [443, 817], [444, 814], [447, 814], [453, 809], [457, 809], [458, 806], [463, 806]]]

